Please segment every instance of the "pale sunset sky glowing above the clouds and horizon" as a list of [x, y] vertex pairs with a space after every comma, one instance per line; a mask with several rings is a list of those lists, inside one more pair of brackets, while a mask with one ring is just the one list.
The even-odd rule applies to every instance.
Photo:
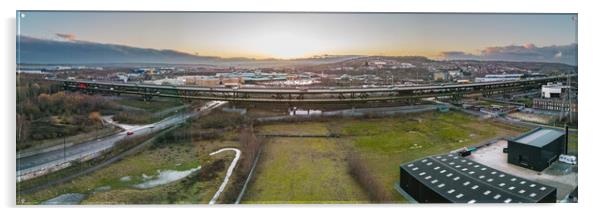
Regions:
[[22, 12], [18, 33], [221, 57], [478, 54], [576, 44], [572, 14]]

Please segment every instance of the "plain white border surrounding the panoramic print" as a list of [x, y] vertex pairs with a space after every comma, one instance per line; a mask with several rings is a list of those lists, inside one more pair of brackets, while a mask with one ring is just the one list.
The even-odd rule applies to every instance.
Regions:
[[[2, 171], [2, 192], [0, 199], [5, 215], [46, 215], [49, 213], [62, 215], [103, 215], [120, 214], [136, 215], [175, 215], [175, 214], [248, 214], [249, 211], [259, 214], [292, 214], [292, 215], [425, 215], [425, 214], [487, 214], [487, 215], [537, 215], [545, 213], [580, 214], [593, 212], [597, 208], [600, 187], [600, 171], [598, 166], [600, 141], [595, 139], [596, 126], [600, 114], [597, 98], [599, 88], [596, 85], [602, 80], [602, 71], [598, 69], [600, 60], [600, 28], [601, 11], [596, 1], [588, 3], [569, 0], [225, 0], [225, 1], [192, 1], [192, 0], [28, 0], [2, 3], [2, 42], [4, 51], [2, 61], [5, 70], [2, 74], [3, 100], [10, 105], [2, 106], [2, 137], [5, 142], [4, 163]], [[57, 207], [22, 207], [15, 206], [15, 29], [16, 10], [154, 10], [154, 11], [319, 11], [319, 12], [504, 12], [504, 13], [578, 13], [579, 17], [579, 71], [580, 82], [580, 128], [581, 143], [579, 163], [582, 184], [578, 204], [545, 204], [545, 205], [253, 205], [253, 206], [77, 206]], [[478, 212], [477, 212], [478, 211]], [[543, 211], [543, 212], [542, 212]], [[544, 213], [545, 212], [545, 213]]]

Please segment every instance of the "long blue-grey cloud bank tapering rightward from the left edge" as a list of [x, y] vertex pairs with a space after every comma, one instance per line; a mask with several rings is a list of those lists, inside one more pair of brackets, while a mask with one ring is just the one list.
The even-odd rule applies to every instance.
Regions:
[[21, 64], [211, 64], [232, 66], [278, 66], [295, 64], [324, 64], [343, 61], [356, 56], [317, 56], [312, 58], [280, 60], [253, 58], [220, 58], [197, 56], [175, 50], [147, 49], [125, 45], [88, 41], [59, 41], [19, 36], [17, 61]]

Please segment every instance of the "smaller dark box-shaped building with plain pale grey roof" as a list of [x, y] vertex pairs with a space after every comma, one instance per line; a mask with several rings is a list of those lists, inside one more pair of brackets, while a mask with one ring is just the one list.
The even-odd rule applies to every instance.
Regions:
[[565, 133], [560, 130], [536, 128], [508, 140], [508, 163], [542, 171], [566, 150]]

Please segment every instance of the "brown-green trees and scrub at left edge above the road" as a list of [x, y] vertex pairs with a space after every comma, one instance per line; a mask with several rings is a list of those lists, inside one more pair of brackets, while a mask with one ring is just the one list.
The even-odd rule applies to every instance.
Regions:
[[[81, 132], [61, 128], [67, 124], [69, 125], [66, 127], [88, 130], [89, 122], [82, 121], [81, 118], [86, 118], [91, 112], [113, 112], [117, 107], [102, 96], [64, 92], [61, 89], [61, 85], [43, 80], [43, 77], [26, 74], [17, 76], [17, 143], [70, 136]], [[79, 119], [50, 124], [55, 128], [51, 128], [49, 132], [44, 128], [36, 128], [43, 124], [40, 122], [54, 116]], [[50, 125], [44, 127], [51, 127]]]

